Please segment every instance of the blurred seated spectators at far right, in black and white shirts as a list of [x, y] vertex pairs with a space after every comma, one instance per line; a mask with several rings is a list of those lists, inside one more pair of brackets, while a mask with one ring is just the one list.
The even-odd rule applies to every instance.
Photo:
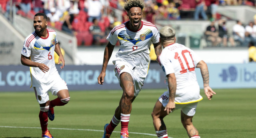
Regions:
[[217, 21], [217, 28], [215, 27], [215, 20], [210, 19], [210, 25], [206, 28], [204, 33], [206, 42], [210, 42], [208, 46], [236, 46], [243, 47], [256, 45], [256, 15], [254, 21], [250, 21], [247, 25], [242, 24], [237, 20], [232, 27], [232, 33], [228, 33], [226, 26], [227, 19], [222, 18]]

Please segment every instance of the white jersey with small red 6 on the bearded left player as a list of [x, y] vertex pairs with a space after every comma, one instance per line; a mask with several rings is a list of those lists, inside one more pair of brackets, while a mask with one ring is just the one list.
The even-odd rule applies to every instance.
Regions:
[[33, 87], [51, 83], [56, 75], [59, 75], [54, 61], [55, 44], [58, 43], [56, 32], [47, 29], [46, 38], [39, 37], [35, 32], [30, 34], [24, 41], [21, 54], [30, 57], [31, 61], [44, 63], [50, 69], [44, 73], [38, 67], [30, 67], [31, 81]]

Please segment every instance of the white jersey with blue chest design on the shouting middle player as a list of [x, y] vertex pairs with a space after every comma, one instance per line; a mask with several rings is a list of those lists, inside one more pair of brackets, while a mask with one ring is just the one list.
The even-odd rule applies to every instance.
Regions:
[[112, 45], [118, 40], [120, 42], [120, 49], [113, 63], [129, 63], [139, 72], [140, 77], [146, 77], [150, 60], [149, 48], [152, 42], [159, 42], [160, 35], [157, 27], [150, 22], [141, 21], [142, 26], [136, 32], [129, 29], [128, 22], [116, 26], [107, 37]]

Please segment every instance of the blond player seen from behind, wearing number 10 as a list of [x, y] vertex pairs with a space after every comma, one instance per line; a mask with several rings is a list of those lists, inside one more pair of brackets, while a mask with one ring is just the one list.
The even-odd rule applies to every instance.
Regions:
[[157, 100], [152, 118], [158, 138], [168, 138], [163, 118], [176, 109], [181, 109], [181, 122], [190, 138], [200, 138], [192, 124], [200, 96], [196, 80], [195, 67], [200, 68], [206, 97], [211, 100], [216, 94], [209, 87], [209, 72], [206, 63], [190, 48], [175, 43], [175, 30], [165, 26], [160, 30], [160, 42], [164, 49], [159, 56], [159, 63], [166, 74], [168, 91]]

